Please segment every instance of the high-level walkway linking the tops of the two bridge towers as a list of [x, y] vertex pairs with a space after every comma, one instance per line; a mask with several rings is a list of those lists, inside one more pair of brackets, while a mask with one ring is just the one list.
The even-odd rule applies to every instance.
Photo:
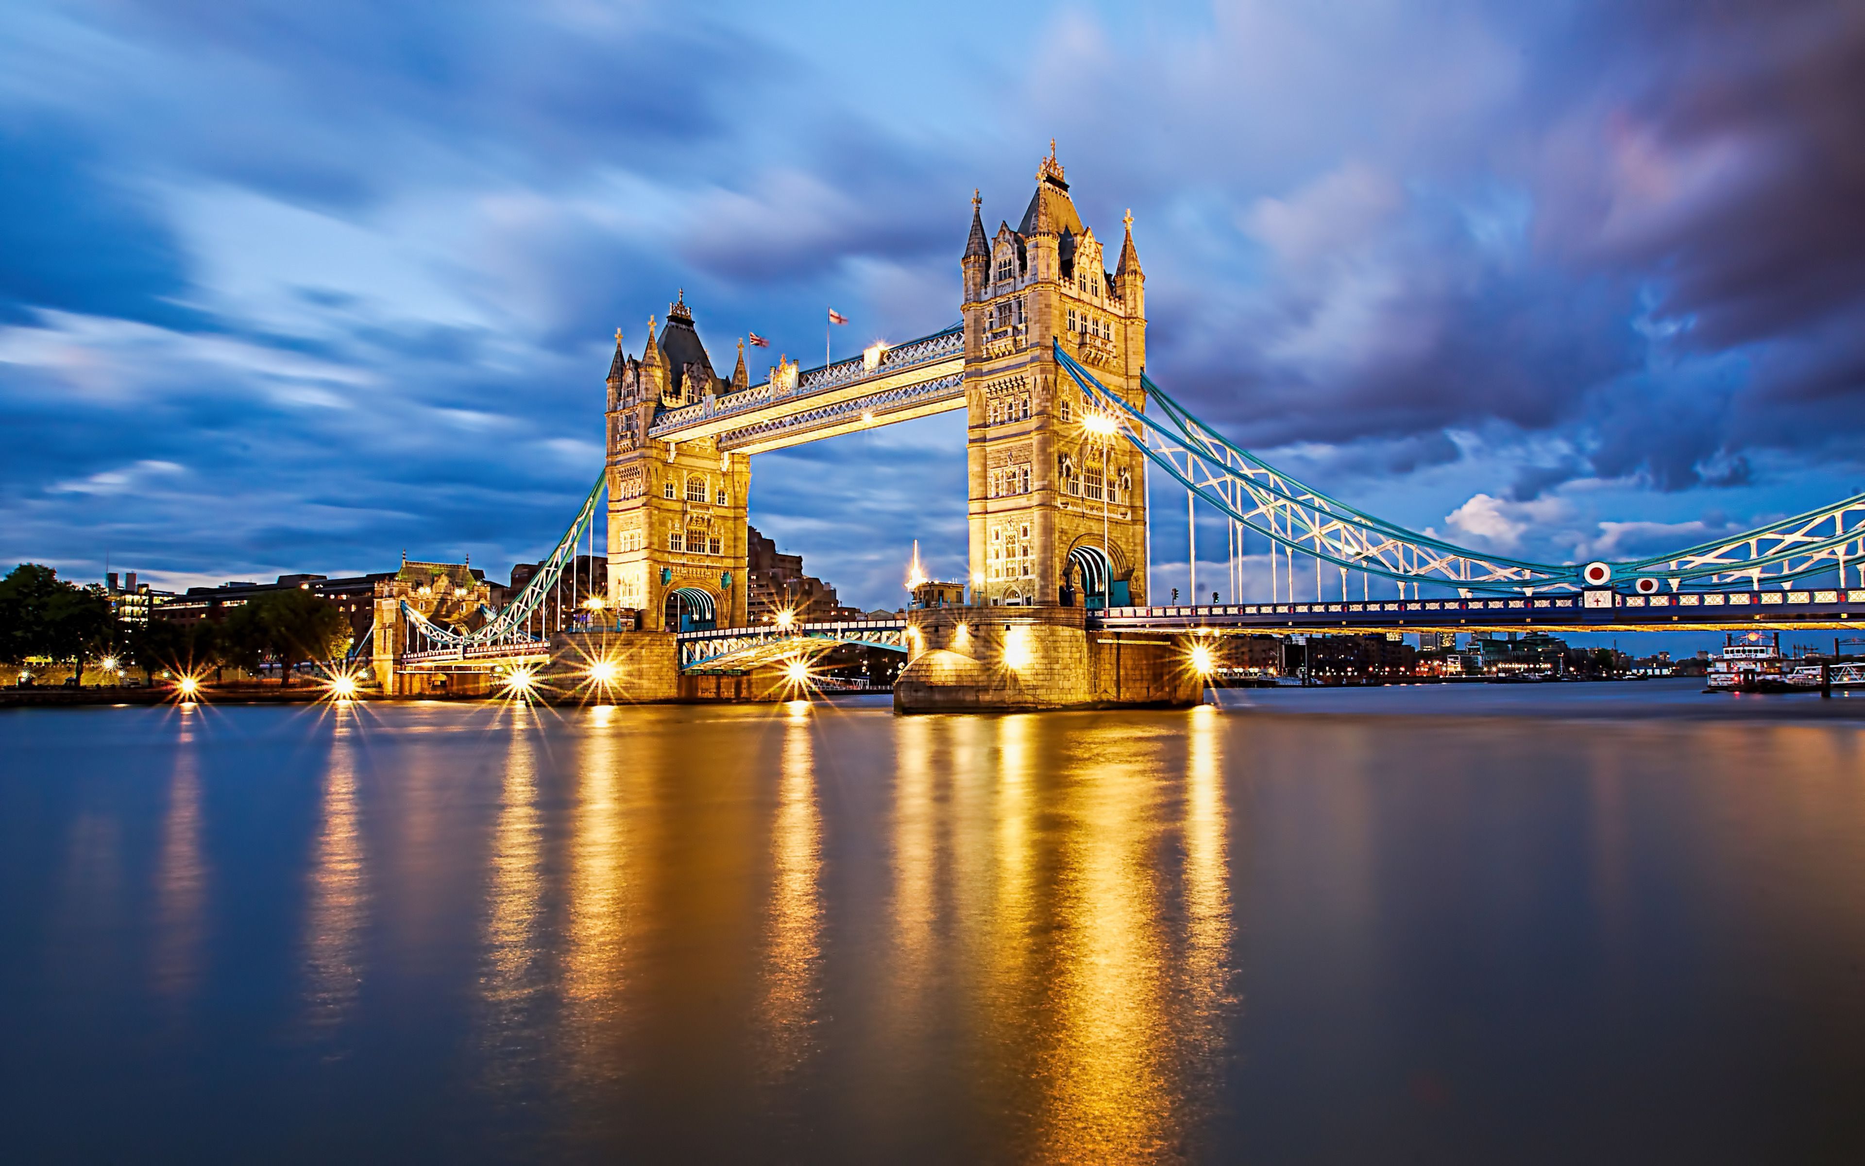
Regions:
[[789, 386], [765, 381], [671, 409], [655, 418], [647, 440], [712, 437], [724, 451], [765, 453], [953, 409], [964, 409], [962, 325], [800, 371]]

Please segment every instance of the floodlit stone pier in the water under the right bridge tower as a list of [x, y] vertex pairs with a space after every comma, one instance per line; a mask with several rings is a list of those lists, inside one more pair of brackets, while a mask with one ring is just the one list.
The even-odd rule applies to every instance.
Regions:
[[899, 713], [1186, 707], [1205, 696], [1188, 647], [1164, 634], [1087, 629], [1082, 608], [914, 612]]

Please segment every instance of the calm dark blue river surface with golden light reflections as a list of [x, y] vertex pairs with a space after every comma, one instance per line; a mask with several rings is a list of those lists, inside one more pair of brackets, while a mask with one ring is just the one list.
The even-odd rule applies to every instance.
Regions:
[[1223, 696], [0, 713], [0, 1157], [1865, 1160], [1865, 700]]

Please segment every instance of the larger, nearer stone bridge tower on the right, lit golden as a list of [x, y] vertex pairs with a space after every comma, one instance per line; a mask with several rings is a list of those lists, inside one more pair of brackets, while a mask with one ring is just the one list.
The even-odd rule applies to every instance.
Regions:
[[1147, 356], [1134, 220], [1112, 271], [1082, 224], [1056, 144], [1022, 222], [985, 235], [972, 198], [964, 257], [974, 603], [1143, 604], [1147, 498], [1138, 453], [1087, 409], [1050, 349], [1095, 369], [1136, 409]]

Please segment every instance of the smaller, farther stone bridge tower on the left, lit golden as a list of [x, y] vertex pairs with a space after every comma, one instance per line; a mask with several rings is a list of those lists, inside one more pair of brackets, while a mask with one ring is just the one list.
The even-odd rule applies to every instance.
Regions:
[[681, 631], [746, 621], [746, 500], [752, 459], [720, 451], [716, 438], [649, 442], [656, 409], [698, 405], [742, 390], [744, 341], [731, 379], [694, 328], [686, 293], [640, 360], [621, 347], [608, 368], [608, 601], [640, 608], [642, 627]]

